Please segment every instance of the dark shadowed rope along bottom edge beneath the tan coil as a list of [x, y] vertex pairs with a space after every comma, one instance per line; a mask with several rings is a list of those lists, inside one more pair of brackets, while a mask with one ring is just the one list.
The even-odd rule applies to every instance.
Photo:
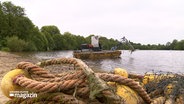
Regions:
[[[19, 102], [17, 102], [17, 100]], [[37, 97], [31, 99], [13, 99], [7, 102], [7, 104], [86, 104], [82, 100], [78, 100], [71, 95], [64, 93], [40, 93]]]

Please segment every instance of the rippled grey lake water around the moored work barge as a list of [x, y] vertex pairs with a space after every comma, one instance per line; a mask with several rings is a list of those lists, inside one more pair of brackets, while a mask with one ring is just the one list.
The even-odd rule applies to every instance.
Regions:
[[[40, 60], [59, 57], [73, 57], [73, 51], [36, 52], [22, 54], [26, 57], [36, 57]], [[137, 50], [132, 54], [122, 51], [121, 58], [83, 60], [89, 67], [98, 71], [111, 71], [116, 67], [128, 72], [144, 74], [155, 72], [184, 73], [184, 51]]]

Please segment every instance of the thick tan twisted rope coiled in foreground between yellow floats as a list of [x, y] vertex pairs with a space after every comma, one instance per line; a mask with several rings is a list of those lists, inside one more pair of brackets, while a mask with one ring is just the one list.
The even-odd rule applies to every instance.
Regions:
[[[57, 64], [73, 65], [75, 73], [54, 75], [40, 67]], [[76, 58], [46, 60], [37, 65], [29, 62], [20, 62], [17, 68], [28, 71], [30, 75], [32, 75], [32, 79], [19, 75], [14, 78], [13, 82], [34, 92], [65, 92], [66, 94], [75, 92], [76, 95], [79, 96], [89, 95], [91, 99], [100, 97], [105, 99], [106, 103], [123, 103], [124, 99], [117, 96], [104, 82], [112, 81], [129, 86], [136, 91], [146, 103], [151, 102], [147, 92], [134, 80], [114, 74], [94, 73], [84, 62]], [[74, 89], [76, 89], [76, 91]]]

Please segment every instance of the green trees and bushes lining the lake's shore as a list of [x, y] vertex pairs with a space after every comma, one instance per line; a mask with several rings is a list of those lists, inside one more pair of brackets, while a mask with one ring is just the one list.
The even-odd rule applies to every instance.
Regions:
[[[80, 44], [90, 43], [90, 38], [74, 35], [70, 32], [60, 33], [57, 26], [43, 26], [39, 29], [26, 16], [24, 8], [11, 2], [0, 2], [0, 50], [4, 51], [50, 51], [76, 50]], [[118, 40], [100, 38], [103, 49], [111, 49], [118, 44]], [[141, 50], [184, 50], [184, 40], [173, 40], [166, 44], [142, 45], [131, 44]], [[128, 49], [122, 45], [119, 49]]]

